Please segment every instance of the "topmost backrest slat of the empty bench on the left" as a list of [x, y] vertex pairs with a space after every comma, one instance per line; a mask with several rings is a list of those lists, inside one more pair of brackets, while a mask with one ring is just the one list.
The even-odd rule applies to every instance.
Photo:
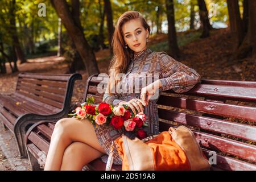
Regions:
[[23, 78], [33, 78], [33, 79], [40, 79], [40, 80], [56, 80], [56, 81], [67, 81], [70, 77], [70, 75], [68, 76], [64, 76], [64, 75], [39, 75], [39, 74], [23, 74], [20, 73], [19, 77], [23, 77]]

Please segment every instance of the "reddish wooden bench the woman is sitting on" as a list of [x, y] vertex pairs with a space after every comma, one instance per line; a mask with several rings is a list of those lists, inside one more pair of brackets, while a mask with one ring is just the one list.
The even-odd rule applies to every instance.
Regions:
[[[97, 84], [103, 79], [88, 78], [86, 97], [102, 101]], [[256, 170], [256, 82], [202, 80], [187, 93], [163, 92], [157, 102], [160, 131], [170, 126], [185, 125], [196, 136], [212, 170]], [[242, 122], [245, 119], [246, 122]], [[44, 165], [56, 121], [42, 121], [31, 126], [26, 134], [26, 146], [32, 169]], [[216, 155], [215, 155], [216, 154]], [[100, 159], [86, 165], [93, 170], [105, 170]], [[113, 170], [121, 166], [113, 165]]]

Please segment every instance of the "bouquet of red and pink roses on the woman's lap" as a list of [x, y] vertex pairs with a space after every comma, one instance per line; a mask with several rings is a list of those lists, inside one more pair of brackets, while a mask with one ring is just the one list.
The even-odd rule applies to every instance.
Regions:
[[130, 131], [137, 134], [139, 139], [147, 137], [146, 132], [142, 127], [146, 127], [146, 115], [143, 112], [134, 114], [127, 109], [127, 105], [113, 106], [105, 102], [94, 105], [94, 98], [86, 99], [86, 102], [73, 110], [73, 118], [87, 118], [96, 127], [98, 125], [112, 125], [114, 129]]

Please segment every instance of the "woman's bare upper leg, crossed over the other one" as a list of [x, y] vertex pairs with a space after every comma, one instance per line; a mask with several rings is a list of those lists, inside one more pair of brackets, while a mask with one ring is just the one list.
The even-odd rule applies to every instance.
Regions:
[[105, 154], [88, 119], [63, 118], [53, 130], [44, 170], [60, 170], [65, 149], [73, 142], [82, 142]]

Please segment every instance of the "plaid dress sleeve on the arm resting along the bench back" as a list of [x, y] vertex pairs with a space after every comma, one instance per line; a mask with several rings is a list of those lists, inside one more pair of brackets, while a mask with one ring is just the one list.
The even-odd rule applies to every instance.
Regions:
[[174, 90], [176, 93], [187, 92], [201, 81], [201, 76], [194, 69], [176, 61], [165, 52], [159, 53], [159, 64], [162, 71], [162, 90]]

